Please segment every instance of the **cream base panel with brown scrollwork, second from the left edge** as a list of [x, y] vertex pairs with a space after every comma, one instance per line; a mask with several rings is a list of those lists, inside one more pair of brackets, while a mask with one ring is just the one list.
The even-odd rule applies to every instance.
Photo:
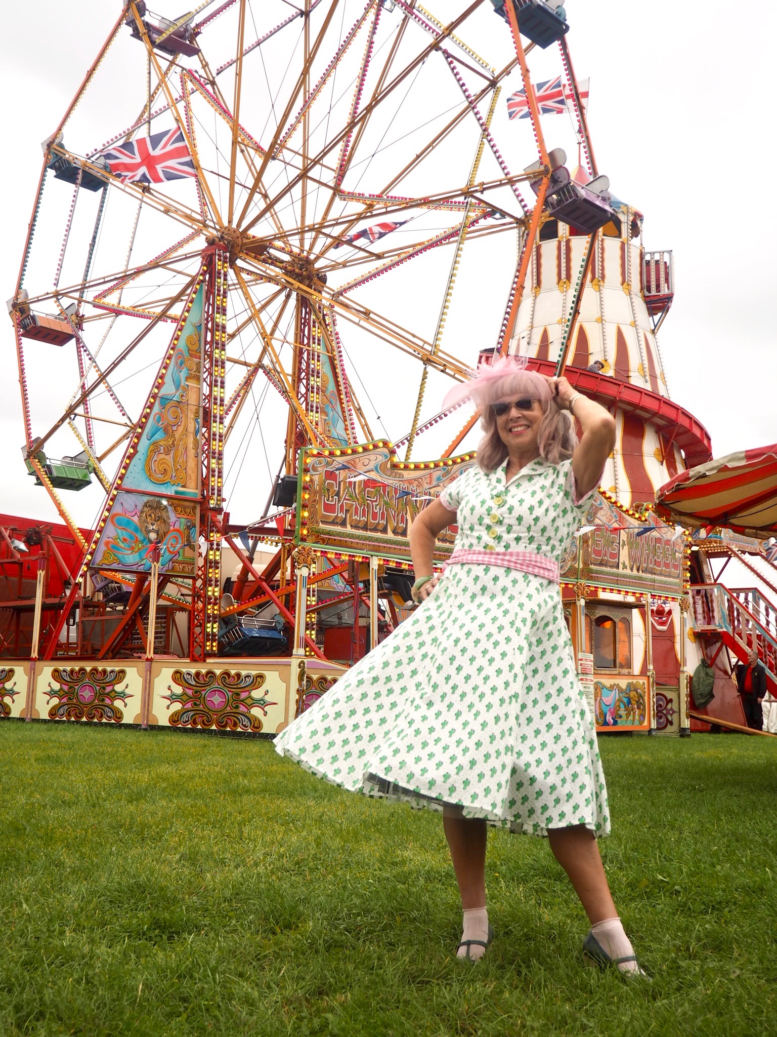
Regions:
[[114, 664], [47, 664], [35, 678], [33, 716], [41, 720], [140, 723], [143, 667]]

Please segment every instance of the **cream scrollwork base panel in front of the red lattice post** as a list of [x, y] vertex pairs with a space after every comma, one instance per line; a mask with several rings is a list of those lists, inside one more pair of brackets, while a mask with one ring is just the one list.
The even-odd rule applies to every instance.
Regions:
[[[163, 727], [276, 734], [293, 716], [293, 660], [153, 667], [152, 719]], [[226, 665], [225, 665], [226, 664]]]

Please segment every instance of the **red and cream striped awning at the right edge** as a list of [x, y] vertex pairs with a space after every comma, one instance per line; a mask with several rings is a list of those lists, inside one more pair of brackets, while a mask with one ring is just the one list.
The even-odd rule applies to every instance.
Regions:
[[749, 536], [777, 533], [777, 443], [681, 472], [656, 494], [662, 518], [688, 528], [727, 526]]

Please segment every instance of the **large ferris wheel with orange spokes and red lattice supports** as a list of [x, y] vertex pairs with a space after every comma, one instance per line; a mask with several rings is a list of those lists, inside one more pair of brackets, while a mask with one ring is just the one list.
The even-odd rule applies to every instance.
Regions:
[[[283, 514], [304, 447], [444, 456], [471, 425], [444, 388], [508, 347], [555, 169], [525, 55], [560, 40], [572, 86], [567, 25], [543, 0], [454, 6], [130, 0], [45, 142], [9, 301], [24, 463], [82, 540], [68, 494], [88, 501], [81, 573], [120, 567], [100, 532], [127, 493], [173, 502], [193, 657], [215, 650], [225, 510]], [[535, 134], [509, 165], [511, 76]]]

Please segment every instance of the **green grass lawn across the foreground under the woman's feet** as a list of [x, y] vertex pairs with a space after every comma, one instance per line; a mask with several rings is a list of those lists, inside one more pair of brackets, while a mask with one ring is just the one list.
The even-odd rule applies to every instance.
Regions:
[[583, 966], [544, 841], [491, 833], [472, 968], [438, 815], [266, 741], [0, 724], [0, 1034], [777, 1033], [774, 744], [601, 745], [650, 985]]

